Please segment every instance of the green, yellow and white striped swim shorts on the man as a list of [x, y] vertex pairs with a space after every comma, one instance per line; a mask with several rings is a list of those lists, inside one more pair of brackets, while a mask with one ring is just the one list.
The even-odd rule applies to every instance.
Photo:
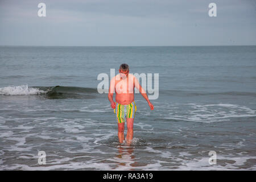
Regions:
[[134, 101], [128, 105], [122, 105], [115, 102], [114, 113], [118, 123], [126, 122], [126, 118], [134, 118], [136, 111], [137, 107]]

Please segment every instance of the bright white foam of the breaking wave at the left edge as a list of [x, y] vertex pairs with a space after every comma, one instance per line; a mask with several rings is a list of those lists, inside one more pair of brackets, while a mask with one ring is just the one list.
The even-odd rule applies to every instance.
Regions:
[[28, 85], [6, 86], [0, 88], [0, 95], [7, 96], [23, 96], [23, 95], [38, 95], [47, 91], [39, 90], [38, 88], [28, 88]]

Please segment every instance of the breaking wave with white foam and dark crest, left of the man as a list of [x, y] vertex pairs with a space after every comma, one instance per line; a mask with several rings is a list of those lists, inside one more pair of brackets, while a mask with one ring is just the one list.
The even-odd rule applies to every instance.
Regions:
[[76, 86], [6, 86], [0, 88], [0, 95], [30, 96], [38, 95], [46, 98], [95, 98], [97, 89]]

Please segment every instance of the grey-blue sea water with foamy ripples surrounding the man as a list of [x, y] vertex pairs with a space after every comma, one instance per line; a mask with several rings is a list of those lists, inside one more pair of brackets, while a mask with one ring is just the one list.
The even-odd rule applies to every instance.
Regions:
[[[0, 63], [0, 170], [256, 169], [256, 46], [2, 46]], [[154, 110], [135, 94], [134, 148], [97, 91], [122, 63], [159, 73]]]

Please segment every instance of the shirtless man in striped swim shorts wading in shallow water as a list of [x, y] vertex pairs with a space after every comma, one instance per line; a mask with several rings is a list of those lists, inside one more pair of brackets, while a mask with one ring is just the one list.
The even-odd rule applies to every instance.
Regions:
[[[130, 146], [133, 139], [133, 122], [137, 107], [134, 102], [134, 87], [139, 90], [139, 93], [146, 99], [150, 109], [154, 106], [148, 100], [147, 94], [139, 84], [138, 79], [129, 74], [129, 65], [121, 64], [119, 74], [114, 76], [110, 81], [108, 98], [112, 109], [114, 109], [115, 118], [118, 122], [118, 139], [122, 144], [125, 130], [125, 121], [127, 121], [127, 146]], [[113, 101], [113, 93], [115, 91], [115, 102]]]

